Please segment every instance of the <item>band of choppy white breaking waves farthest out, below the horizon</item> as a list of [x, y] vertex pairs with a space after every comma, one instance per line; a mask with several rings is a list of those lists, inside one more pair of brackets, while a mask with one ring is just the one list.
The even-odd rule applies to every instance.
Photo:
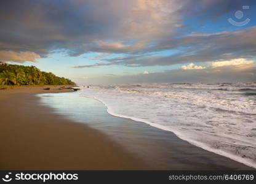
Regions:
[[[206, 107], [218, 108], [223, 110], [232, 110], [243, 113], [256, 113], [254, 99], [241, 98], [240, 94], [232, 97], [230, 93], [207, 93], [207, 91], [168, 91], [168, 90], [141, 90], [116, 87], [116, 91], [119, 93], [131, 93], [131, 94], [145, 94], [148, 96], [158, 96], [159, 98], [176, 99], [182, 102], [190, 102], [191, 104], [204, 105]], [[226, 91], [221, 89], [220, 91]], [[247, 96], [254, 95], [253, 93], [245, 94]]]

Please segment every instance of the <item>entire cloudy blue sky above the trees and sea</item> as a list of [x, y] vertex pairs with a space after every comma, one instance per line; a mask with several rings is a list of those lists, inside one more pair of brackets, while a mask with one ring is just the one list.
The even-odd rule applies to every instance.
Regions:
[[0, 61], [78, 84], [256, 82], [256, 1], [1, 0]]

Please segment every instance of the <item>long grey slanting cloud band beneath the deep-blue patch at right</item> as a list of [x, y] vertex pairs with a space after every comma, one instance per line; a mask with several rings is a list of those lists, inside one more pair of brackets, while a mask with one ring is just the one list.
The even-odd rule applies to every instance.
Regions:
[[153, 50], [183, 50], [167, 56], [141, 56], [137, 59], [124, 59], [124, 65], [138, 66], [172, 65], [180, 63], [209, 62], [219, 59], [252, 58], [256, 56], [256, 26], [240, 31], [225, 31], [214, 34], [192, 33], [177, 39], [164, 40], [155, 45]]

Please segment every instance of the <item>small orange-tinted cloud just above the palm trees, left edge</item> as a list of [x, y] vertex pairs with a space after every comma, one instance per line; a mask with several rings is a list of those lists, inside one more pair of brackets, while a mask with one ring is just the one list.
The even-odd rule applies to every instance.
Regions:
[[14, 52], [0, 50], [0, 59], [3, 62], [13, 61], [16, 63], [24, 63], [25, 61], [37, 62], [36, 58], [41, 58], [34, 52]]

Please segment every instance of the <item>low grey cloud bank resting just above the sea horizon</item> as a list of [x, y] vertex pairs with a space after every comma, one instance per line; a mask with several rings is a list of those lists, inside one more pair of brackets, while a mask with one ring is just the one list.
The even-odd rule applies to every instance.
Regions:
[[[88, 82], [101, 83], [220, 83], [255, 82], [256, 67], [239, 69], [234, 67], [209, 67], [202, 70], [172, 70], [150, 74], [123, 75], [120, 77], [91, 77]], [[84, 81], [78, 80], [77, 83]]]

